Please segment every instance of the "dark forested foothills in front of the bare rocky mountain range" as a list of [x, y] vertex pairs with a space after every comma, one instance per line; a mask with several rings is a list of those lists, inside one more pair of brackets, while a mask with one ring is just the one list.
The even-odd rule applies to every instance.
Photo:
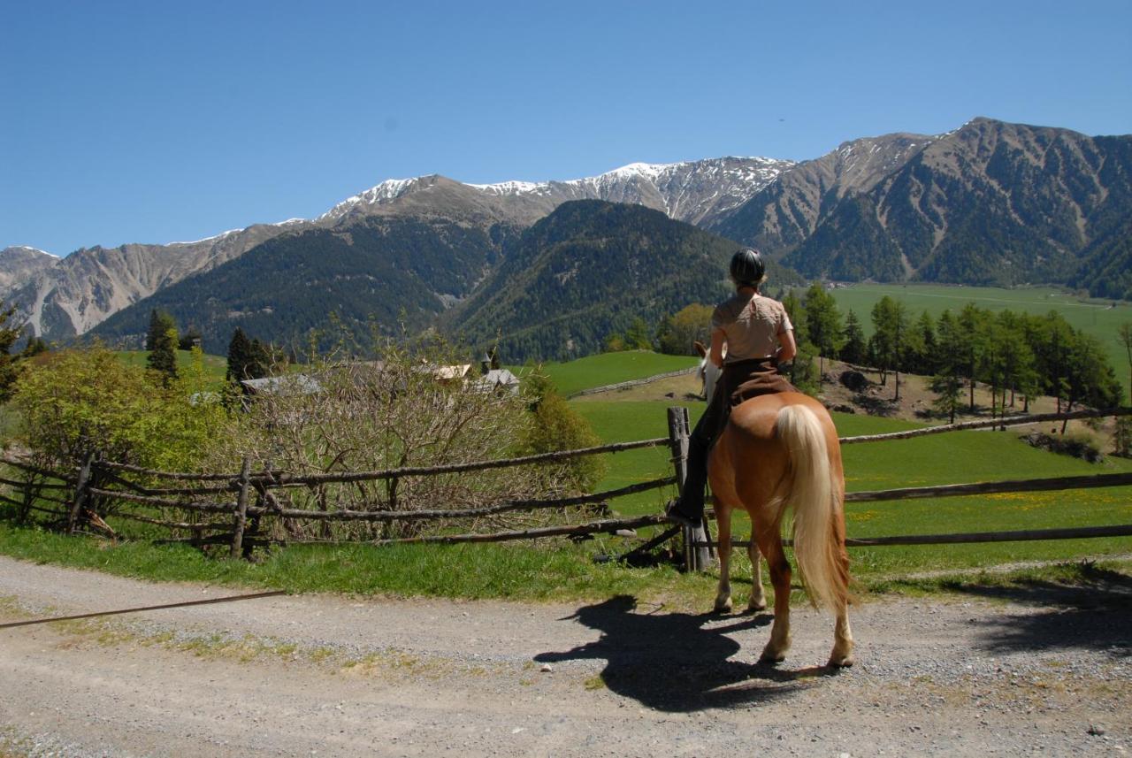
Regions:
[[[223, 352], [235, 327], [300, 350], [345, 329], [439, 326], [508, 361], [584, 355], [636, 317], [718, 300], [735, 243], [640, 205], [573, 200], [524, 227], [371, 214], [280, 234], [122, 309], [92, 334], [139, 345], [151, 310], [198, 329]], [[799, 277], [774, 266], [779, 283]], [[332, 316], [333, 313], [333, 316]]]

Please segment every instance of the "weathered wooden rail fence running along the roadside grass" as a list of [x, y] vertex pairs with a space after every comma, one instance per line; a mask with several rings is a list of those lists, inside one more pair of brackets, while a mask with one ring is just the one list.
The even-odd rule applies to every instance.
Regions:
[[[1005, 429], [1006, 427], [1032, 424], [1066, 419], [1091, 419], [1103, 416], [1132, 415], [1132, 408], [1107, 411], [1078, 411], [1062, 414], [1036, 414], [1009, 416], [993, 421], [966, 422], [943, 427], [931, 427], [889, 434], [871, 434], [842, 438], [842, 445], [909, 439], [926, 434], [968, 430]], [[327, 544], [335, 540], [277, 539], [265, 528], [265, 522], [312, 522], [312, 523], [391, 523], [391, 522], [443, 522], [445, 524], [478, 519], [512, 511], [535, 512], [547, 509], [568, 509], [583, 506], [608, 503], [617, 498], [670, 488], [677, 490], [684, 483], [684, 466], [689, 434], [686, 408], [669, 408], [669, 436], [619, 442], [599, 447], [547, 453], [501, 460], [484, 460], [429, 467], [402, 467], [372, 472], [346, 472], [299, 475], [282, 470], [252, 471], [245, 460], [238, 474], [212, 473], [192, 474], [162, 472], [127, 464], [102, 460], [96, 454], [87, 455], [82, 465], [72, 471], [55, 472], [32, 465], [26, 459], [5, 456], [0, 463], [18, 472], [12, 477], [0, 477], [0, 484], [10, 489], [0, 493], [0, 502], [15, 508], [18, 518], [29, 518], [33, 514], [46, 517], [68, 533], [101, 531], [110, 527], [98, 515], [112, 512], [117, 518], [148, 524], [170, 531], [171, 536], [163, 542], [188, 542], [195, 545], [221, 544], [228, 546], [231, 557], [249, 555], [258, 544], [282, 542], [286, 544]], [[392, 509], [345, 509], [335, 507], [325, 510], [285, 508], [276, 493], [290, 488], [319, 488], [326, 484], [361, 483], [375, 481], [397, 481], [406, 477], [437, 476], [491, 468], [557, 463], [582, 456], [603, 455], [640, 448], [668, 446], [674, 464], [674, 475], [660, 477], [628, 486], [554, 499], [516, 499], [472, 507], [448, 507], [426, 510]], [[145, 482], [145, 484], [139, 483]], [[1132, 473], [1099, 474], [1054, 479], [1032, 479], [1004, 482], [980, 482], [949, 484], [941, 486], [903, 488], [872, 492], [851, 492], [849, 502], [882, 500], [904, 500], [912, 498], [962, 497], [998, 492], [1037, 492], [1099, 486], [1125, 486], [1132, 484]], [[387, 503], [386, 503], [387, 505]], [[155, 515], [156, 514], [156, 515]], [[491, 533], [453, 533], [414, 535], [397, 539], [367, 541], [371, 544], [394, 543], [457, 543], [500, 542], [507, 540], [532, 540], [549, 536], [584, 536], [598, 533], [616, 533], [646, 526], [668, 526], [633, 552], [652, 550], [679, 533], [660, 514], [635, 518], [597, 518], [577, 524], [554, 524], [537, 528], [512, 529]], [[189, 536], [178, 536], [188, 534]], [[711, 550], [717, 546], [710, 541], [709, 520], [701, 527], [686, 529], [683, 544], [685, 562], [689, 569], [704, 569], [711, 562]], [[1100, 536], [1132, 535], [1132, 524], [1106, 527], [1080, 527], [1064, 529], [1040, 529], [1027, 532], [996, 532], [974, 534], [901, 535], [872, 539], [850, 539], [849, 545], [897, 545], [897, 544], [954, 544], [963, 542], [1060, 540]], [[746, 544], [736, 542], [736, 544]], [[628, 553], [627, 553], [628, 555]], [[624, 557], [623, 557], [624, 558]]]

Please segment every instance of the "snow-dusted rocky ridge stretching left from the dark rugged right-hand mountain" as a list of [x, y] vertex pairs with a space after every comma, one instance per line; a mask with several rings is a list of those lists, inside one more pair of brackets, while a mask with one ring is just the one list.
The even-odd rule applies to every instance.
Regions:
[[197, 242], [94, 247], [36, 270], [0, 258], [0, 299], [15, 303], [37, 335], [60, 339], [85, 334], [128, 305], [282, 234], [346, 229], [370, 216], [439, 218], [488, 233], [497, 224], [529, 226], [561, 203], [583, 198], [636, 203], [701, 221], [741, 204], [790, 165], [789, 161], [727, 157], [632, 164], [561, 182], [463, 184], [439, 175], [389, 180], [311, 221], [257, 224]]

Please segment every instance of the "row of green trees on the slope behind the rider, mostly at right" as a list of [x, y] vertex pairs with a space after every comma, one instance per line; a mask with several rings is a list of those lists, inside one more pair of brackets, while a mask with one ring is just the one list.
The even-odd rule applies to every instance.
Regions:
[[[885, 295], [867, 315], [873, 330], [866, 338], [861, 317], [851, 309], [842, 313], [820, 283], [800, 295], [790, 290], [774, 296], [794, 322], [798, 358], [789, 368], [790, 379], [804, 391], [818, 391], [825, 361], [837, 359], [875, 369], [884, 386], [892, 377], [894, 400], [900, 399], [901, 373], [929, 377], [935, 411], [951, 422], [964, 407], [975, 412], [977, 384], [989, 387], [992, 413], [1019, 404], [1027, 412], [1039, 395], [1055, 398], [1058, 412], [1112, 407], [1123, 399], [1100, 341], [1074, 329], [1057, 311], [1032, 316], [968, 303], [933, 318], [927, 311], [916, 316]], [[706, 338], [711, 312], [697, 303], [663, 319], [653, 345], [661, 352], [691, 352], [693, 339]], [[640, 343], [641, 329], [634, 333], [633, 342]], [[628, 336], [620, 344], [629, 344]], [[1132, 325], [1122, 328], [1121, 338], [1132, 368]]]

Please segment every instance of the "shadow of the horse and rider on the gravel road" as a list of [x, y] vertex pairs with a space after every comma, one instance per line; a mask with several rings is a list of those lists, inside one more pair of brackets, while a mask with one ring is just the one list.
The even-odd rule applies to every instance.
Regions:
[[608, 663], [601, 681], [606, 687], [658, 710], [684, 713], [769, 703], [807, 687], [807, 680], [812, 683], [835, 671], [824, 666], [787, 671], [731, 661], [739, 643], [728, 634], [767, 627], [773, 620], [769, 613], [732, 617], [734, 623], [705, 628], [726, 617], [637, 613], [635, 597], [617, 595], [584, 605], [569, 618], [599, 630], [601, 638], [563, 653], [541, 653], [534, 660], [604, 658]]

